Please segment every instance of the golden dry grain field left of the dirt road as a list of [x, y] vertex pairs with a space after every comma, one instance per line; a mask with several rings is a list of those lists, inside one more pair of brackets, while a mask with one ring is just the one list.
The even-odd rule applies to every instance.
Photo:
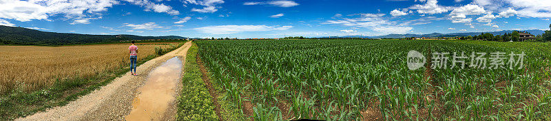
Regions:
[[[138, 44], [138, 61], [155, 47], [178, 42]], [[129, 64], [129, 44], [83, 46], [0, 46], [0, 93], [34, 91], [57, 79], [87, 78]], [[139, 70], [138, 70], [139, 71]]]

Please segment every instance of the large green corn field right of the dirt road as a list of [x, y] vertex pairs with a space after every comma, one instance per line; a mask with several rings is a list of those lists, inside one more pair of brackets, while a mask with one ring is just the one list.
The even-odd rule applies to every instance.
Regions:
[[[196, 43], [212, 81], [227, 93], [225, 100], [239, 109], [252, 104], [253, 113], [243, 115], [255, 120], [551, 120], [551, 52], [548, 47], [533, 49], [533, 43]], [[406, 59], [411, 50], [425, 56], [433, 52], [524, 52], [526, 57], [520, 69], [430, 69], [426, 64], [409, 70]]]

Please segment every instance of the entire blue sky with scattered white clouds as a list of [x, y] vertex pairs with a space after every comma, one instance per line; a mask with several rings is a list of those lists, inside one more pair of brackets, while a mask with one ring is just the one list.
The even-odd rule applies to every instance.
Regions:
[[549, 29], [550, 0], [0, 0], [0, 25], [191, 38]]

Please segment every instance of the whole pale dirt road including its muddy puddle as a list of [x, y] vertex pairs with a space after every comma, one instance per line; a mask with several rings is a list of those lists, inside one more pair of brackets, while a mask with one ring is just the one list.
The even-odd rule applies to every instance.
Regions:
[[63, 107], [16, 120], [174, 120], [191, 41]]

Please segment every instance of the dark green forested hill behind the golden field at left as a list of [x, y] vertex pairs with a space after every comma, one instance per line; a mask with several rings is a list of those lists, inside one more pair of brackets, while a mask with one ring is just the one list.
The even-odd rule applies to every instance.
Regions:
[[87, 44], [95, 42], [118, 42], [121, 40], [149, 39], [185, 39], [181, 36], [134, 36], [134, 35], [90, 35], [78, 33], [56, 33], [27, 29], [23, 27], [8, 27], [0, 25], [0, 44], [38, 44], [63, 45]]

